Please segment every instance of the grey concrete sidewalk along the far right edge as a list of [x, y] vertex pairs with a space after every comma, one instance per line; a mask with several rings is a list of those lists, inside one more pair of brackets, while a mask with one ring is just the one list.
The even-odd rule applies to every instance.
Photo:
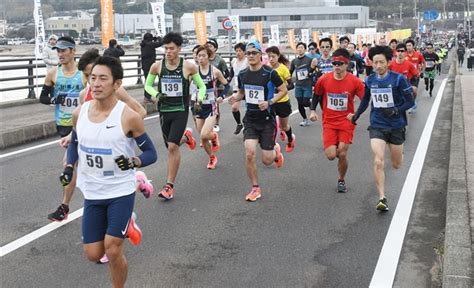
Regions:
[[[456, 60], [455, 60], [456, 61]], [[443, 287], [473, 287], [474, 71], [454, 67], [451, 153], [444, 243]]]

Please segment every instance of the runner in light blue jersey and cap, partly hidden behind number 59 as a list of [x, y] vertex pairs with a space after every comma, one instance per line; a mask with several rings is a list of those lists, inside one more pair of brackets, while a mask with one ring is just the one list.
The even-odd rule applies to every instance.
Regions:
[[[76, 42], [69, 36], [58, 39], [53, 47], [58, 52], [59, 66], [48, 71], [41, 90], [40, 102], [46, 105], [55, 105], [56, 129], [60, 137], [69, 135], [72, 131], [72, 112], [79, 106], [79, 92], [86, 87], [86, 78], [77, 69], [74, 60]], [[48, 215], [52, 221], [63, 221], [69, 214], [76, 179], [63, 189], [61, 205]]]

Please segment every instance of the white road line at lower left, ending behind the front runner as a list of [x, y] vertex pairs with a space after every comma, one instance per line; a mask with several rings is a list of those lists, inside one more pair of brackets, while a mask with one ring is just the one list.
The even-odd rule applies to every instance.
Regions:
[[54, 231], [58, 229], [61, 226], [66, 225], [67, 223], [76, 220], [77, 218], [82, 216], [84, 208], [81, 208], [79, 210], [74, 211], [73, 213], [69, 214], [69, 217], [67, 220], [61, 221], [61, 222], [52, 222], [49, 223], [46, 226], [43, 226], [39, 228], [38, 230], [35, 230], [21, 238], [18, 238], [5, 246], [0, 247], [0, 257], [3, 257], [7, 255], [8, 253], [15, 251], [16, 249], [25, 246], [26, 244], [30, 243], [31, 241], [34, 241], [38, 239], [39, 237], [48, 234], [51, 231]]

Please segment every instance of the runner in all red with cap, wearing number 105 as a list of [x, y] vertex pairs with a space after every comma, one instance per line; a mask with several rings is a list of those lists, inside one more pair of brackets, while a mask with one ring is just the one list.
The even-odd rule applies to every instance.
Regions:
[[339, 193], [347, 192], [344, 180], [349, 167], [347, 154], [355, 129], [355, 125], [347, 119], [347, 116], [354, 113], [355, 96], [362, 99], [365, 93], [362, 80], [347, 72], [349, 58], [349, 52], [345, 48], [334, 51], [332, 55], [334, 72], [323, 75], [314, 86], [310, 115], [311, 121], [318, 120], [316, 107], [320, 102], [324, 152], [330, 161], [336, 157], [339, 159], [337, 164]]

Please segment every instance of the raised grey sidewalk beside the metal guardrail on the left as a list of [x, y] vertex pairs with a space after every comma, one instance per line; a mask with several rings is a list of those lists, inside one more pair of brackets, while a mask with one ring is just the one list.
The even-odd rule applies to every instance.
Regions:
[[[132, 86], [127, 91], [143, 103], [143, 88]], [[156, 112], [154, 105], [148, 104], [145, 108], [148, 114]], [[0, 104], [0, 123], [0, 150], [56, 134], [54, 107], [38, 100]]]

